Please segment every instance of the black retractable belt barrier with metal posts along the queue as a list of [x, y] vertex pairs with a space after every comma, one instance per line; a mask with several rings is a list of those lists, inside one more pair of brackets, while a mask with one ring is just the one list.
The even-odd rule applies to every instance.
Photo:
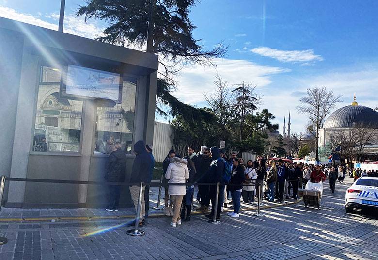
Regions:
[[[5, 182], [6, 181], [22, 181], [22, 182], [40, 182], [40, 183], [61, 183], [61, 184], [84, 184], [84, 185], [102, 185], [102, 186], [140, 186], [139, 188], [139, 197], [138, 197], [138, 205], [136, 210], [136, 216], [135, 216], [135, 227], [134, 229], [127, 230], [126, 234], [131, 236], [143, 236], [145, 234], [144, 231], [139, 229], [139, 222], [140, 222], [140, 211], [142, 206], [142, 191], [143, 191], [143, 185], [149, 185], [150, 187], [159, 187], [159, 195], [158, 195], [158, 201], [157, 201], [157, 207], [153, 207], [154, 209], [160, 210], [163, 208], [160, 208], [160, 197], [161, 197], [161, 187], [162, 187], [162, 180], [160, 179], [160, 182], [103, 182], [103, 181], [83, 181], [83, 180], [65, 180], [65, 179], [33, 179], [33, 178], [13, 178], [13, 177], [6, 177], [1, 176], [1, 182], [0, 182], [0, 212], [1, 212], [1, 205], [2, 205], [2, 199], [5, 189]], [[227, 185], [227, 186], [239, 186], [240, 184], [232, 184], [227, 183], [223, 184], [220, 182], [210, 182], [210, 183], [168, 183], [167, 186], [217, 186], [216, 191], [216, 197], [215, 197], [215, 205], [214, 205], [214, 219], [210, 220], [211, 223], [219, 224], [220, 222], [217, 221], [217, 208], [218, 208], [218, 197], [219, 197], [219, 186], [220, 185]], [[259, 194], [257, 196], [257, 214], [255, 216], [257, 217], [264, 217], [263, 214], [260, 214], [260, 204], [262, 200], [262, 193], [264, 188], [263, 181], [257, 181], [255, 183], [249, 183], [249, 184], [242, 184], [243, 186], [257, 186], [260, 187]], [[7, 239], [5, 237], [0, 237], [0, 245], [6, 244]]]

